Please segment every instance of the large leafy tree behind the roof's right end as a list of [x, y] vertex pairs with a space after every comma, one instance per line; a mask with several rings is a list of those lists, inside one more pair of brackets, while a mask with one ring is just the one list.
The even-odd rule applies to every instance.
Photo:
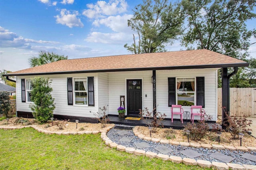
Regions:
[[243, 59], [250, 46], [249, 38], [256, 35], [248, 30], [246, 21], [255, 18], [255, 0], [183, 0], [188, 31], [182, 44], [188, 48], [208, 49]]

